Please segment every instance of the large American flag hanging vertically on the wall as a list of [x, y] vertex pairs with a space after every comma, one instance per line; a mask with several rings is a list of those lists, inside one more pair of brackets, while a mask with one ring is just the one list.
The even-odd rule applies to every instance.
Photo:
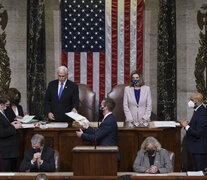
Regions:
[[96, 92], [96, 104], [143, 69], [144, 0], [62, 0], [62, 65]]

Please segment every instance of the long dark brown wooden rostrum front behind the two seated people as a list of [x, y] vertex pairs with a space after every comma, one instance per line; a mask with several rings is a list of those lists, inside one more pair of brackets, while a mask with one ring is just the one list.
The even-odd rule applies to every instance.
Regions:
[[[45, 144], [59, 151], [60, 171], [71, 172], [72, 169], [72, 149], [75, 146], [93, 145], [82, 142], [76, 136], [75, 131], [79, 128], [52, 128], [52, 129], [22, 129], [20, 130], [20, 161], [23, 158], [24, 150], [31, 147], [31, 137], [40, 133], [45, 136]], [[140, 149], [141, 143], [148, 136], [158, 139], [162, 147], [175, 153], [174, 171], [181, 169], [181, 135], [180, 127], [176, 128], [119, 128], [118, 141], [121, 150], [122, 160], [120, 171], [132, 171], [132, 165]]]

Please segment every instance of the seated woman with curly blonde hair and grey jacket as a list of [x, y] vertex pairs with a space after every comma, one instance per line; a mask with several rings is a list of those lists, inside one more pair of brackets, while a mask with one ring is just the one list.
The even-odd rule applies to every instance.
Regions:
[[168, 151], [154, 137], [147, 137], [133, 164], [133, 170], [139, 173], [169, 173], [172, 172], [172, 162]]

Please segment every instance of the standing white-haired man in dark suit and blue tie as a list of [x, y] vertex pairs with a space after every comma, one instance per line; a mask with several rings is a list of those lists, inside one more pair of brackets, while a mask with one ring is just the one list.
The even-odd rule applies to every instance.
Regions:
[[60, 66], [57, 70], [58, 79], [51, 81], [45, 94], [45, 113], [52, 121], [72, 121], [66, 112], [77, 112], [79, 107], [78, 85], [68, 80], [68, 69]]

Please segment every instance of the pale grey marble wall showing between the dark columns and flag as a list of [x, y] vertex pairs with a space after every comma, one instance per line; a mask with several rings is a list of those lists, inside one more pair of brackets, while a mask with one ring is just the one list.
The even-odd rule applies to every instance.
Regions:
[[[8, 12], [6, 49], [11, 64], [11, 87], [22, 93], [26, 106], [26, 14], [27, 0], [0, 0]], [[59, 0], [45, 1], [47, 82], [56, 78], [61, 61]], [[176, 0], [177, 13], [177, 119], [191, 118], [189, 96], [196, 91], [194, 69], [199, 47], [197, 11], [206, 0]], [[151, 87], [153, 112], [157, 111], [157, 26], [159, 0], [145, 0], [144, 79]]]

